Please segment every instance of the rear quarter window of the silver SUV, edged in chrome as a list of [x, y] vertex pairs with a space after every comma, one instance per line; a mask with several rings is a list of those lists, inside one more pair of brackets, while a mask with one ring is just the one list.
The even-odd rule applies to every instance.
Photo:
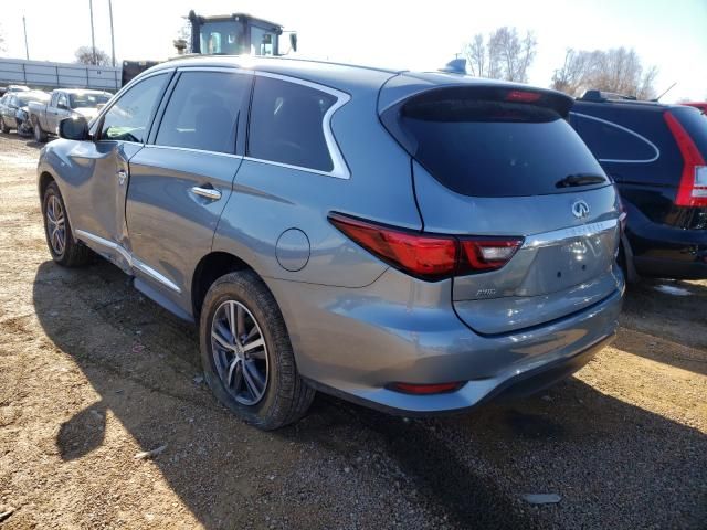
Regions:
[[261, 160], [331, 171], [324, 115], [336, 97], [296, 83], [255, 77], [247, 155]]

